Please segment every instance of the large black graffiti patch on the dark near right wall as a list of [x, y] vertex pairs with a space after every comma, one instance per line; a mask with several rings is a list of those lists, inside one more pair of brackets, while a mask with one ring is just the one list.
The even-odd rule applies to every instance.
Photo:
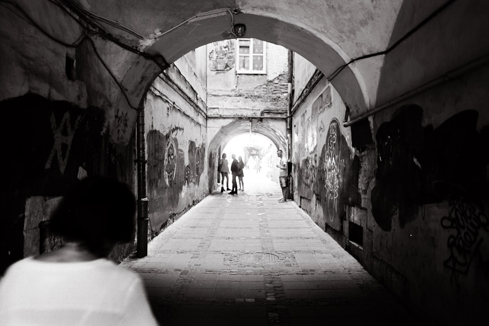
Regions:
[[378, 128], [376, 185], [372, 215], [384, 231], [397, 214], [400, 227], [420, 216], [428, 203], [488, 196], [485, 169], [489, 157], [480, 149], [489, 144], [489, 128], [476, 129], [478, 113], [466, 110], [436, 129], [422, 126], [417, 105], [398, 109]]

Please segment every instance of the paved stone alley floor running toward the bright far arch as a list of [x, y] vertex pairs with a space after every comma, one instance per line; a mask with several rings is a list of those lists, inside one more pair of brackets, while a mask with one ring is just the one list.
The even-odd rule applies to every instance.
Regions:
[[161, 325], [421, 325], [293, 201], [279, 203], [276, 182], [250, 179], [121, 263]]

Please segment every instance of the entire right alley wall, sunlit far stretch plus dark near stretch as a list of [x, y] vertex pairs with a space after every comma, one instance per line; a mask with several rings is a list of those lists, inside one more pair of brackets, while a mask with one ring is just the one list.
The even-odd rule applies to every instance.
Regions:
[[322, 78], [293, 116], [297, 204], [407, 304], [450, 325], [474, 323], [488, 303], [488, 82], [486, 65], [345, 128]]

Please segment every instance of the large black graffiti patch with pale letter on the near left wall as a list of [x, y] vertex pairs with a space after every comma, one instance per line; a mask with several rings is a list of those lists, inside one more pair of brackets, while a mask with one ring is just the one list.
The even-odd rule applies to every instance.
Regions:
[[[102, 109], [82, 109], [35, 94], [2, 101], [1, 107], [2, 149], [9, 157], [6, 177], [18, 183], [15, 188], [22, 185], [22, 193], [60, 196], [78, 181], [80, 167], [89, 175], [100, 169], [105, 125]], [[22, 132], [13, 130], [20, 127], [13, 122], [22, 122]]]

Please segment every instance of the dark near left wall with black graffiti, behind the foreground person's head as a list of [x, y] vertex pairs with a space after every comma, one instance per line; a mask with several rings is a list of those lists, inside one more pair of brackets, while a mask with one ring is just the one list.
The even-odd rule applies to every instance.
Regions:
[[[115, 105], [122, 95], [101, 62], [117, 74], [111, 56], [124, 56], [93, 36], [93, 45], [83, 38], [69, 45], [83, 31], [51, 2], [16, 2], [39, 28], [2, 4], [0, 138], [9, 159], [1, 164], [0, 273], [55, 248], [40, 225], [78, 178], [102, 174], [134, 184], [135, 110]], [[132, 245], [117, 247], [112, 258], [127, 256]]]

